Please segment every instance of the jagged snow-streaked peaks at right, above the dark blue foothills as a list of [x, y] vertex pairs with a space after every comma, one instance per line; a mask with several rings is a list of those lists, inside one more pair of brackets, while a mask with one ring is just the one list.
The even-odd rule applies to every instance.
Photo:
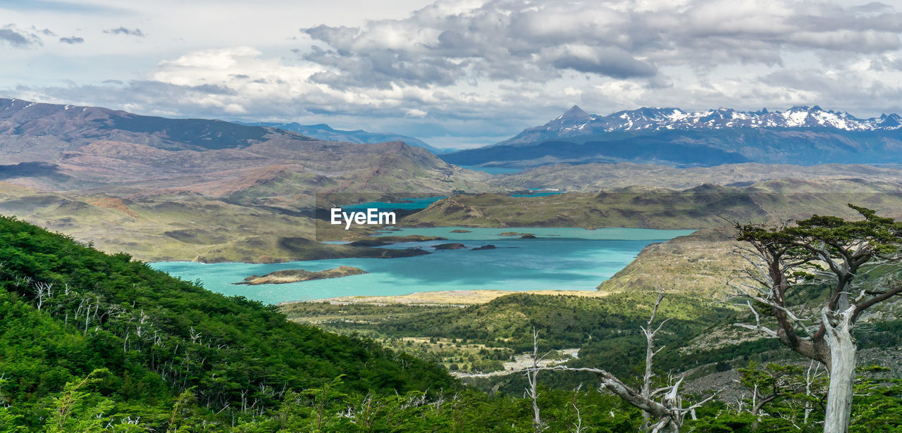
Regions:
[[679, 108], [639, 108], [612, 115], [590, 115], [573, 106], [563, 115], [495, 145], [536, 143], [544, 140], [612, 132], [707, 130], [724, 128], [828, 128], [842, 131], [889, 131], [902, 128], [902, 116], [891, 114], [860, 119], [820, 106], [794, 106], [786, 111], [736, 111], [718, 108], [689, 112]]

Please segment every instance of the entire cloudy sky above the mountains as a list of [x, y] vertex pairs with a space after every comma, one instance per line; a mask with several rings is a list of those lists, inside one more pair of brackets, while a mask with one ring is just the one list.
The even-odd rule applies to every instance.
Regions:
[[0, 97], [497, 143], [570, 106], [902, 114], [902, 0], [0, 0]]

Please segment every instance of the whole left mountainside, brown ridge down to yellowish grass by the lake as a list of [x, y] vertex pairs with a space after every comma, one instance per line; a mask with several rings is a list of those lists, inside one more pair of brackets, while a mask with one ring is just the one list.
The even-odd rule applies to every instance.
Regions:
[[382, 256], [315, 243], [329, 228], [311, 218], [317, 198], [446, 195], [488, 178], [403, 142], [0, 99], [0, 214], [142, 260]]

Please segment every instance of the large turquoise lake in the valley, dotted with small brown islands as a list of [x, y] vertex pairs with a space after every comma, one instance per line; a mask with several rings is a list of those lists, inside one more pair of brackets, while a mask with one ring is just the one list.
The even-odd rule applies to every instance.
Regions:
[[[451, 233], [464, 227], [405, 228], [386, 235], [431, 235], [446, 241], [399, 243], [386, 248], [421, 247], [432, 252], [396, 259], [331, 259], [290, 263], [151, 263], [155, 269], [183, 280], [203, 282], [208, 290], [242, 295], [265, 303], [322, 299], [337, 296], [402, 295], [436, 290], [594, 290], [629, 264], [646, 245], [694, 230], [643, 228], [466, 228], [472, 233]], [[504, 232], [530, 233], [538, 239], [502, 236]], [[437, 251], [431, 245], [465, 244], [467, 249]], [[470, 248], [493, 244], [493, 250]], [[366, 272], [328, 280], [287, 284], [233, 285], [253, 274], [283, 269], [323, 271], [346, 265]]]

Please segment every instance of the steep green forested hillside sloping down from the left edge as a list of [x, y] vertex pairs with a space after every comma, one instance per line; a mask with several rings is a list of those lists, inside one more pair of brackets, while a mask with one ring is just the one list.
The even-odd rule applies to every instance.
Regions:
[[0, 263], [0, 431], [113, 431], [78, 427], [106, 417], [166, 431], [185, 411], [222, 424], [325, 385], [352, 395], [456, 387], [372, 341], [13, 218], [0, 218]]

